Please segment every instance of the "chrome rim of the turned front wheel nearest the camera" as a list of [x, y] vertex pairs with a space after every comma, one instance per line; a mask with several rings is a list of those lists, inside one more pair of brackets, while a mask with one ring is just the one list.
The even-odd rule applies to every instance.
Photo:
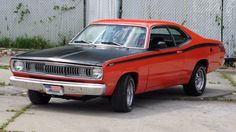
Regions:
[[132, 105], [133, 99], [134, 99], [134, 82], [130, 80], [127, 87], [127, 105], [129, 107]]

